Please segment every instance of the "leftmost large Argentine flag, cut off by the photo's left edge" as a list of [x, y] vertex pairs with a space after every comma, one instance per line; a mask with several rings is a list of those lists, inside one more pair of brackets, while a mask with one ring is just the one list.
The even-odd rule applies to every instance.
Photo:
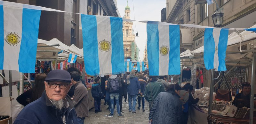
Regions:
[[[0, 1], [0, 70], [35, 73], [41, 10], [5, 5]], [[9, 2], [10, 3], [10, 2]]]

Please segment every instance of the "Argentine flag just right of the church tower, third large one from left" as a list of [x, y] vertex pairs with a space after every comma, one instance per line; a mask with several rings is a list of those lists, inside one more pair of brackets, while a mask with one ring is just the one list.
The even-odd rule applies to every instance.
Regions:
[[180, 74], [180, 26], [147, 23], [149, 75]]

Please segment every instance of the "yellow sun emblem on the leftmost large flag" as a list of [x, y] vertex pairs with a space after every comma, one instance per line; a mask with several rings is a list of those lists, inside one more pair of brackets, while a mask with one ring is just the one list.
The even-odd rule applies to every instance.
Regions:
[[4, 40], [10, 46], [17, 46], [20, 43], [20, 36], [18, 33], [9, 32], [4, 36]]

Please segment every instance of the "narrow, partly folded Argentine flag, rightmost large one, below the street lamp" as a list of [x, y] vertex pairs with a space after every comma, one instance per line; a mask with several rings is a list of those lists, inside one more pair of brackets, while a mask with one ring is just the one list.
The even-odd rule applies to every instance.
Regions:
[[228, 29], [205, 28], [204, 30], [204, 65], [207, 70], [225, 71]]

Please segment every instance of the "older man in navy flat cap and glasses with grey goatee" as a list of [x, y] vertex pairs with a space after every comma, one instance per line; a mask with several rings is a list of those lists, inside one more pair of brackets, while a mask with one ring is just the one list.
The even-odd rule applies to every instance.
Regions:
[[14, 124], [77, 124], [76, 102], [67, 95], [70, 74], [65, 70], [52, 70], [44, 84], [42, 97], [24, 107]]

